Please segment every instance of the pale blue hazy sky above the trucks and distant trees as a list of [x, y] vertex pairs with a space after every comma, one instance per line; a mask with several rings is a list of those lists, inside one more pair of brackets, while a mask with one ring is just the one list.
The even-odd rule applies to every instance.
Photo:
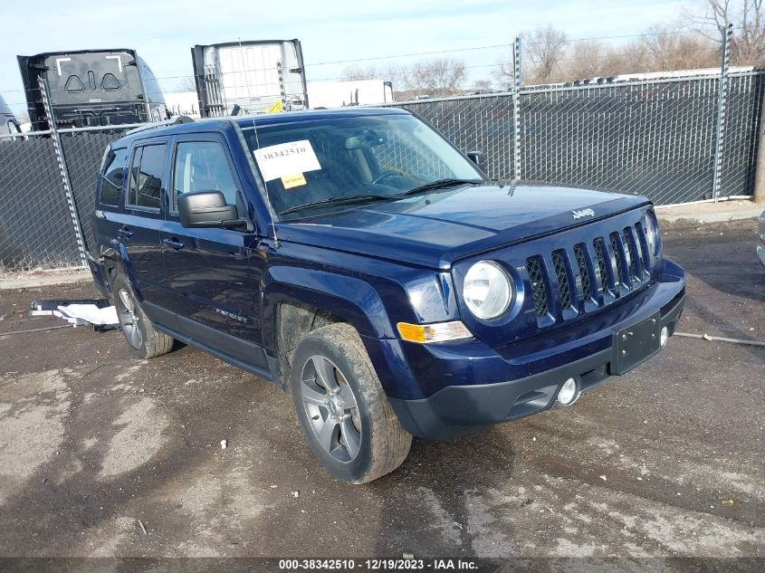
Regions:
[[[134, 48], [163, 89], [192, 73], [189, 48], [236, 40], [301, 40], [309, 81], [339, 79], [349, 64], [382, 56], [511, 44], [517, 33], [551, 24], [569, 38], [631, 35], [680, 24], [684, 2], [665, 0], [356, 0], [214, 2], [211, 0], [0, 1], [0, 95], [25, 108], [17, 54]], [[618, 40], [614, 40], [618, 42]], [[489, 79], [511, 48], [445, 53]], [[412, 56], [375, 62], [406, 63]], [[370, 62], [357, 62], [365, 66]]]

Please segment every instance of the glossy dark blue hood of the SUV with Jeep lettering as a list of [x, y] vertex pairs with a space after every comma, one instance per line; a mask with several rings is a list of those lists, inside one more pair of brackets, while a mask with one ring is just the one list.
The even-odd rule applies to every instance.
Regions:
[[[282, 241], [448, 269], [454, 261], [649, 202], [570, 187], [461, 186], [276, 225]], [[575, 217], [591, 209], [594, 215]]]

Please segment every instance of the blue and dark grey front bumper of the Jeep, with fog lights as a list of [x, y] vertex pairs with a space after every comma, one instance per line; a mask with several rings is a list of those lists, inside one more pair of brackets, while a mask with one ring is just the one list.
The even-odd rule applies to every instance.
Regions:
[[[416, 372], [418, 390], [428, 387], [430, 382], [440, 383], [442, 387], [425, 397], [391, 396], [386, 380], [381, 377], [390, 403], [408, 432], [430, 439], [470, 434], [488, 425], [546, 410], [556, 403], [559, 387], [569, 377], [579, 381], [581, 390], [587, 390], [617, 374], [615, 333], [651, 316], [660, 316], [661, 327], [667, 327], [670, 335], [674, 333], [683, 312], [685, 295], [682, 271], [676, 265], [674, 268], [680, 272], [674, 281], [655, 285], [653, 290], [626, 304], [622, 312], [611, 314], [615, 322], [607, 328], [598, 329], [593, 335], [574, 337], [568, 345], [540, 349], [533, 357], [524, 357], [529, 361], [522, 364], [511, 364], [512, 360], [496, 354], [449, 357], [448, 351], [442, 352], [439, 358], [424, 360], [422, 354], [412, 349], [406, 360]], [[601, 320], [608, 320], [609, 315], [604, 314]], [[646, 355], [641, 362], [658, 350]], [[406, 355], [406, 350], [401, 354]], [[405, 356], [396, 358], [400, 363]], [[530, 373], [513, 376], [524, 370]], [[501, 372], [509, 376], [496, 380]], [[459, 379], [462, 383], [448, 385], [446, 382], [445, 385], [449, 379]], [[467, 380], [472, 383], [465, 384]], [[401, 387], [395, 390], [401, 391]]]

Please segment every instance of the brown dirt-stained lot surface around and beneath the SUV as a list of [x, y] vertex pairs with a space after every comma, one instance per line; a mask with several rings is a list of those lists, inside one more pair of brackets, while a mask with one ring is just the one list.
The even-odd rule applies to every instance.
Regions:
[[[765, 340], [755, 224], [665, 229], [680, 330]], [[94, 295], [0, 291], [0, 556], [765, 556], [765, 348], [675, 337], [573, 407], [416, 439], [349, 486], [289, 396], [202, 351], [18, 333], [62, 324], [34, 299]]]

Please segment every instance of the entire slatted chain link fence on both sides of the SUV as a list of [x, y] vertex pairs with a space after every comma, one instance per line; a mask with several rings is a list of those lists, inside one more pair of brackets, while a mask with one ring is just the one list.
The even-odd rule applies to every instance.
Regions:
[[[752, 195], [765, 71], [728, 78], [718, 152], [720, 81], [548, 87], [393, 105], [416, 112], [456, 147], [483, 151], [491, 178], [617, 190], [669, 205], [712, 198], [718, 161], [720, 196]], [[87, 248], [104, 149], [131, 127], [60, 130], [68, 177], [56, 134], [0, 137], [0, 271], [81, 266], [68, 198]]]

